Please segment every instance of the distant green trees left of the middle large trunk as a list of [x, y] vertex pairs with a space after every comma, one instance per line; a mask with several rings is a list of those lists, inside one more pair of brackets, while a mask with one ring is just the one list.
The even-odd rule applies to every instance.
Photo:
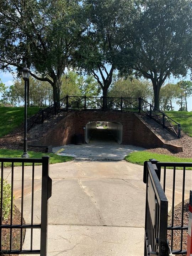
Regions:
[[[53, 104], [52, 86], [46, 81], [40, 81], [30, 77], [29, 102], [30, 106], [46, 107]], [[70, 96], [98, 96], [100, 86], [92, 76], [81, 76], [69, 71], [62, 76], [61, 97]], [[24, 102], [24, 81], [15, 79], [10, 87], [0, 82], [2, 94], [0, 105], [21, 106]]]

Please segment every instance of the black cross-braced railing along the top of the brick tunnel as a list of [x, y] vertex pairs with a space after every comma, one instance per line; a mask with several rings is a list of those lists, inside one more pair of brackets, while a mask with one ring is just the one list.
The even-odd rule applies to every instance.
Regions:
[[[107, 108], [104, 107], [106, 102]], [[66, 95], [59, 102], [39, 111], [34, 116], [28, 118], [28, 130], [34, 125], [41, 124], [62, 111], [68, 110], [117, 110], [145, 113], [150, 118], [161, 124], [161, 126], [178, 138], [181, 137], [181, 126], [164, 112], [158, 110], [153, 105], [142, 98], [131, 97], [89, 97], [89, 96], [68, 96]]]

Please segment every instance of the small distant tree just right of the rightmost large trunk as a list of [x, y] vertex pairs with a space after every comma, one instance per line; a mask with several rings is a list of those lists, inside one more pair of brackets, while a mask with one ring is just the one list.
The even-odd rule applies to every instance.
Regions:
[[177, 98], [179, 87], [175, 84], [166, 84], [160, 90], [160, 106], [162, 110], [173, 110], [172, 103]]

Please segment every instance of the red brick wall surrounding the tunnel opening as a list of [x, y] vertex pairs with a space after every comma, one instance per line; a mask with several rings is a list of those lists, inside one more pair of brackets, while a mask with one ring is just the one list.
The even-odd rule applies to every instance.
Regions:
[[121, 122], [123, 125], [122, 144], [131, 144], [144, 148], [162, 147], [164, 144], [137, 114], [116, 111], [71, 112], [67, 117], [55, 124], [55, 127], [40, 139], [40, 143], [53, 146], [73, 143], [75, 134], [84, 136], [83, 127], [89, 121]]

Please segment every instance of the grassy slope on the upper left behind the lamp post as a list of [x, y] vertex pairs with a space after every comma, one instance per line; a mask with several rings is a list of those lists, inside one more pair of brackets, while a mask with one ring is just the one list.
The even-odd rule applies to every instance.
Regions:
[[[33, 116], [39, 107], [27, 108], [27, 117]], [[9, 134], [24, 122], [24, 107], [0, 107], [0, 137]]]

